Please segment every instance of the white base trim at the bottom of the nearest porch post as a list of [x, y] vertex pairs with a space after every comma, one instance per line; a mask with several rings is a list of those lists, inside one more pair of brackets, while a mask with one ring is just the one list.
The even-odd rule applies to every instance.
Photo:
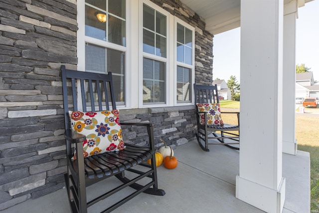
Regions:
[[286, 198], [286, 179], [277, 190], [236, 176], [236, 198], [268, 213], [282, 213]]

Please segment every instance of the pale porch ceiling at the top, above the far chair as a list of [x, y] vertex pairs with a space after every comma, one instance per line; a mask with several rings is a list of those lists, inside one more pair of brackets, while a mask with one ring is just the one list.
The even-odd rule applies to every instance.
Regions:
[[[240, 0], [180, 0], [203, 17], [206, 30], [216, 35], [240, 26]], [[292, 0], [284, 0], [289, 3]], [[298, 6], [312, 0], [297, 0]]]

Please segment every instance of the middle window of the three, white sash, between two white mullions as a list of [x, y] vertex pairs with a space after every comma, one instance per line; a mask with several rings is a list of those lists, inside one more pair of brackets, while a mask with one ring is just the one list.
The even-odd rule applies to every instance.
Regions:
[[166, 16], [143, 4], [143, 104], [166, 102]]

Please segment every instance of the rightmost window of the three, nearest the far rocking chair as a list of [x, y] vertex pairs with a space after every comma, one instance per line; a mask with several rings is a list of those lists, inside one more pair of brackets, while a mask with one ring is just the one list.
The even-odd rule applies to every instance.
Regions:
[[192, 100], [193, 31], [176, 24], [176, 102]]

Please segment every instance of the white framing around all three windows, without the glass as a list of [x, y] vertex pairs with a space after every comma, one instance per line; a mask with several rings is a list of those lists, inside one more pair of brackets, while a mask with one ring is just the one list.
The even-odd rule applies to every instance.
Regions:
[[[143, 57], [148, 53], [143, 52], [143, 4], [146, 4], [163, 15], [166, 15], [166, 73], [165, 73], [165, 103], [143, 104]], [[96, 38], [85, 36], [85, 0], [77, 1], [77, 69], [85, 71], [85, 42], [105, 46], [126, 52], [125, 64], [125, 105], [117, 106], [118, 109], [153, 108], [193, 105], [193, 86], [191, 85], [191, 102], [177, 103], [177, 22], [192, 30], [192, 65], [180, 64], [191, 69], [191, 84], [195, 82], [195, 27], [170, 14], [167, 10], [150, 0], [126, 0], [126, 47], [105, 42]], [[136, 12], [139, 11], [139, 12]], [[137, 30], [138, 29], [138, 30]], [[138, 41], [138, 42], [137, 42]], [[152, 55], [152, 59], [162, 61], [162, 57]], [[137, 94], [138, 91], [138, 94]]]

